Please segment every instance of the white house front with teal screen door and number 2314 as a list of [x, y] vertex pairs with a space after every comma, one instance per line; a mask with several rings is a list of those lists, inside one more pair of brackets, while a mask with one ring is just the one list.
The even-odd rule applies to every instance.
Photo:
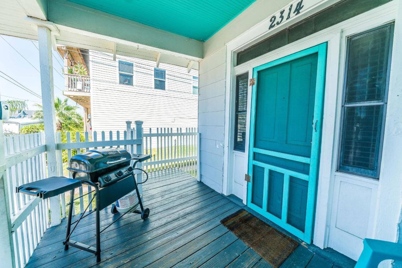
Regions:
[[401, 39], [401, 1], [251, 4], [204, 43], [201, 181], [354, 260], [402, 242]]

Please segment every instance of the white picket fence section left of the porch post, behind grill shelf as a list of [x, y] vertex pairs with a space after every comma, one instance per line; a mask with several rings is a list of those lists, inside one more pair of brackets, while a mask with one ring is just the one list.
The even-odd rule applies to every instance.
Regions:
[[6, 137], [4, 151], [14, 258], [16, 267], [24, 267], [48, 227], [49, 210], [47, 200], [17, 194], [15, 188], [46, 178], [44, 135]]

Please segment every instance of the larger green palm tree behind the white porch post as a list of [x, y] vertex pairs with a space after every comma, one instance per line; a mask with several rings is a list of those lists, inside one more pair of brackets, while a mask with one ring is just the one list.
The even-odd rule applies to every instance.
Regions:
[[[70, 105], [67, 103], [68, 98], [61, 100], [56, 97], [54, 101], [54, 108], [56, 112], [56, 131], [62, 131], [62, 124], [67, 122], [80, 123], [82, 117], [76, 112], [78, 106]], [[41, 104], [35, 104], [40, 109], [35, 111], [33, 118], [43, 120], [43, 106]]]

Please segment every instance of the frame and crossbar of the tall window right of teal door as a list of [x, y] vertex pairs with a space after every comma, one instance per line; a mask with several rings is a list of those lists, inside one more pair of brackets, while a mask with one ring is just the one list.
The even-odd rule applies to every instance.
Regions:
[[[355, 33], [353, 35], [349, 35], [346, 37], [346, 49], [345, 49], [345, 65], [344, 65], [344, 70], [343, 70], [343, 85], [342, 85], [342, 102], [340, 106], [340, 126], [339, 126], [339, 136], [338, 136], [338, 152], [337, 152], [337, 159], [336, 159], [336, 172], [339, 173], [345, 173], [345, 174], [351, 174], [354, 176], [360, 176], [363, 178], [369, 178], [369, 179], [374, 179], [374, 180], [379, 180], [379, 174], [381, 171], [381, 160], [382, 160], [382, 151], [383, 151], [383, 146], [384, 146], [384, 131], [385, 131], [385, 124], [386, 124], [386, 115], [387, 115], [387, 103], [388, 103], [388, 90], [390, 86], [390, 73], [391, 73], [391, 61], [392, 61], [392, 45], [394, 41], [394, 26], [395, 22], [391, 23], [386, 23], [384, 25], [380, 25], [371, 29], [368, 29], [366, 31], [362, 31], [359, 33]], [[361, 102], [355, 102], [353, 104], [346, 104], [346, 85], [347, 85], [347, 72], [348, 72], [348, 67], [349, 67], [349, 49], [350, 49], [350, 40], [353, 37], [365, 35], [367, 33], [379, 30], [381, 28], [386, 28], [390, 27], [390, 44], [389, 44], [389, 51], [388, 51], [388, 64], [387, 64], [387, 74], [386, 74], [386, 85], [384, 89], [384, 98], [383, 101], [361, 101]], [[361, 106], [383, 106], [382, 110], [382, 122], [381, 122], [381, 130], [380, 130], [380, 136], [379, 136], [379, 149], [378, 149], [378, 158], [377, 158], [377, 170], [375, 176], [370, 176], [362, 173], [357, 173], [357, 172], [351, 172], [347, 170], [341, 170], [340, 169], [340, 160], [341, 160], [341, 154], [342, 154], [342, 142], [343, 142], [343, 136], [344, 136], [344, 129], [343, 126], [345, 124], [345, 113], [346, 113], [346, 108], [347, 107], [361, 107]], [[360, 170], [367, 170], [363, 168], [359, 168]]]

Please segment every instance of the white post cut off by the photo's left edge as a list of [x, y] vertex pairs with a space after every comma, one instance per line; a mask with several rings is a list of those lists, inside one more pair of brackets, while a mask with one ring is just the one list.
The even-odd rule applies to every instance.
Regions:
[[8, 202], [3, 121], [0, 120], [0, 263], [2, 267], [15, 267], [14, 241], [11, 233], [10, 206]]

